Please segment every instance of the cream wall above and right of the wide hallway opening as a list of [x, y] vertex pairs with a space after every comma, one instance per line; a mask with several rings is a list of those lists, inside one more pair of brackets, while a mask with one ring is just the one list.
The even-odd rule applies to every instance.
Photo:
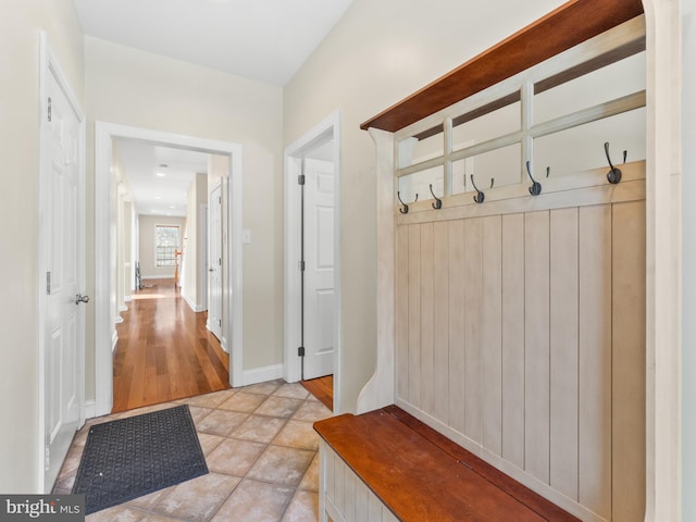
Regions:
[[244, 251], [244, 369], [282, 363], [281, 88], [90, 37], [85, 85], [88, 150], [95, 121], [241, 144], [244, 227], [253, 239]]

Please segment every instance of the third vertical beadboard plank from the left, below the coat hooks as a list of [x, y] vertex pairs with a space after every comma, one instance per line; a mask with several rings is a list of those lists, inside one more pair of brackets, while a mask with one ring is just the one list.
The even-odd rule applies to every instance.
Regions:
[[421, 408], [435, 409], [435, 260], [433, 223], [421, 225]]

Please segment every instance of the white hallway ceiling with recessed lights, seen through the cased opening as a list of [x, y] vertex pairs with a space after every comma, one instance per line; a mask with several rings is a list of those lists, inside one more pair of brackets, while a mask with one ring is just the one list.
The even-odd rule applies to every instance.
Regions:
[[[138, 214], [186, 215], [186, 192], [197, 173], [208, 172], [210, 154], [115, 139]], [[165, 165], [165, 166], [163, 166]]]

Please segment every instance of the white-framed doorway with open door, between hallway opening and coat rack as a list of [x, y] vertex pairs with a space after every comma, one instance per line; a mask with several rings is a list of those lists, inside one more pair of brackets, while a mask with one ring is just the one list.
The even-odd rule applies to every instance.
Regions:
[[[285, 378], [340, 384], [339, 113], [285, 151]], [[334, 393], [334, 411], [339, 411]]]

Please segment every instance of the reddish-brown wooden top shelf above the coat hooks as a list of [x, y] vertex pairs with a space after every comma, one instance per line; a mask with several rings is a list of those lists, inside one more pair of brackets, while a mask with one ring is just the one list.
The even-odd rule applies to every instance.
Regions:
[[360, 128], [399, 130], [641, 14], [641, 0], [571, 0]]

